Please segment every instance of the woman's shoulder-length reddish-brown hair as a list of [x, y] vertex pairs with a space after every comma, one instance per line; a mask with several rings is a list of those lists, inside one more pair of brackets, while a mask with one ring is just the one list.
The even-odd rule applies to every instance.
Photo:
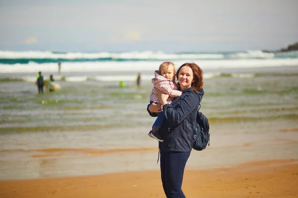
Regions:
[[[179, 67], [179, 69], [177, 70], [176, 78], [178, 79], [180, 69], [184, 66], [190, 67], [191, 70], [193, 71], [194, 82], [191, 84], [191, 88], [193, 88], [194, 91], [201, 90], [203, 88], [203, 83], [204, 83], [203, 82], [203, 70], [196, 63], [187, 62], [187, 63], [184, 63], [183, 65], [181, 65]], [[178, 82], [178, 85], [179, 85], [179, 82]]]

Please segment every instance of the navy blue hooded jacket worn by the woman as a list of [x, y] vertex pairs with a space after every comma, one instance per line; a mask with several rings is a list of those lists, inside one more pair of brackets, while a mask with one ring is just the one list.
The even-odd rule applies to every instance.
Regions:
[[[203, 89], [194, 92], [192, 88], [187, 88], [171, 104], [162, 107], [165, 119], [159, 129], [163, 137], [163, 142], [159, 142], [161, 151], [191, 151], [194, 142], [193, 126], [203, 95]], [[149, 105], [147, 110], [152, 117], [156, 116], [156, 113], [149, 111]]]

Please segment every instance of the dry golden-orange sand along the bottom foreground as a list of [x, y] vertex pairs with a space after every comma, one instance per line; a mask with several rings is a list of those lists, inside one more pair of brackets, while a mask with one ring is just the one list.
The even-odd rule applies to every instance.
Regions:
[[[298, 197], [298, 159], [185, 171], [187, 198]], [[1, 198], [164, 198], [159, 171], [0, 181]]]

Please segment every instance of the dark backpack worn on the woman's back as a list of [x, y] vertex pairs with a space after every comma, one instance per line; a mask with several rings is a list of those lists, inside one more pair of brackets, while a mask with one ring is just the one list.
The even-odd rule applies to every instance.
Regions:
[[207, 117], [200, 112], [201, 104], [197, 112], [197, 120], [194, 127], [194, 145], [193, 149], [203, 150], [210, 146], [210, 133], [209, 133], [209, 122]]

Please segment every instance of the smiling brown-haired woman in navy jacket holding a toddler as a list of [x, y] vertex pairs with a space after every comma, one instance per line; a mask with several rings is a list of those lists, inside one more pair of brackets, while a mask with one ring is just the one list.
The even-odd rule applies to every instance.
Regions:
[[204, 95], [203, 71], [197, 64], [184, 63], [176, 77], [182, 95], [168, 104], [169, 96], [158, 93], [160, 103], [147, 107], [152, 117], [157, 112], [164, 113], [164, 123], [159, 130], [164, 141], [159, 142], [159, 149], [161, 181], [167, 198], [185, 198], [181, 189], [184, 168], [194, 141], [197, 110]]

